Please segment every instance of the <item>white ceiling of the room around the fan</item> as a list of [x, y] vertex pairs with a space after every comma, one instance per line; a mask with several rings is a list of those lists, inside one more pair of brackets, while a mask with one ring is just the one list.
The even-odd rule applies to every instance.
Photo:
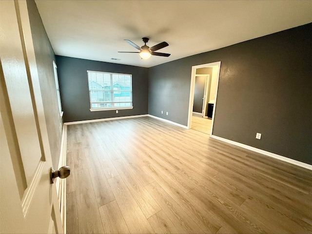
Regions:
[[[36, 0], [56, 55], [152, 67], [312, 22], [311, 0]], [[140, 59], [118, 51], [169, 43]], [[121, 59], [119, 61], [112, 58]]]

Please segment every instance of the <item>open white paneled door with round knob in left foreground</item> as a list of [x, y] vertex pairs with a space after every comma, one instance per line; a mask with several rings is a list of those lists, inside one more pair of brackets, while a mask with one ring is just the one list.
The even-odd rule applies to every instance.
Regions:
[[26, 4], [0, 0], [0, 233], [62, 233]]

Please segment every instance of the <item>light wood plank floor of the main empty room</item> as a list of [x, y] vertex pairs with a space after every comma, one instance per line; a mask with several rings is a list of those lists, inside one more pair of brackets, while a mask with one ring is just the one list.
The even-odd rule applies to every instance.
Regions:
[[312, 233], [312, 171], [151, 117], [68, 125], [67, 233]]

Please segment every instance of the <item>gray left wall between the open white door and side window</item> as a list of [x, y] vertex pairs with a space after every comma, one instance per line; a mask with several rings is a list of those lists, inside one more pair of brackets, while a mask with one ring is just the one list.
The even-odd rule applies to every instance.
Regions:
[[40, 90], [49, 144], [54, 168], [59, 166], [62, 119], [59, 114], [58, 98], [54, 78], [54, 51], [45, 32], [35, 1], [27, 1], [31, 33], [38, 68]]

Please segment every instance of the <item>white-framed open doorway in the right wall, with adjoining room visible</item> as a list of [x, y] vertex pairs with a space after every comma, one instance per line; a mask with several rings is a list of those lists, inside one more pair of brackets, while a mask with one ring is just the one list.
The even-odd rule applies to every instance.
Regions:
[[[188, 129], [192, 128], [212, 135], [220, 66], [221, 61], [192, 67]], [[201, 88], [198, 88], [199, 84], [204, 82], [204, 86], [201, 85]], [[203, 93], [202, 90], [204, 90]], [[200, 101], [201, 111], [199, 109]]]

